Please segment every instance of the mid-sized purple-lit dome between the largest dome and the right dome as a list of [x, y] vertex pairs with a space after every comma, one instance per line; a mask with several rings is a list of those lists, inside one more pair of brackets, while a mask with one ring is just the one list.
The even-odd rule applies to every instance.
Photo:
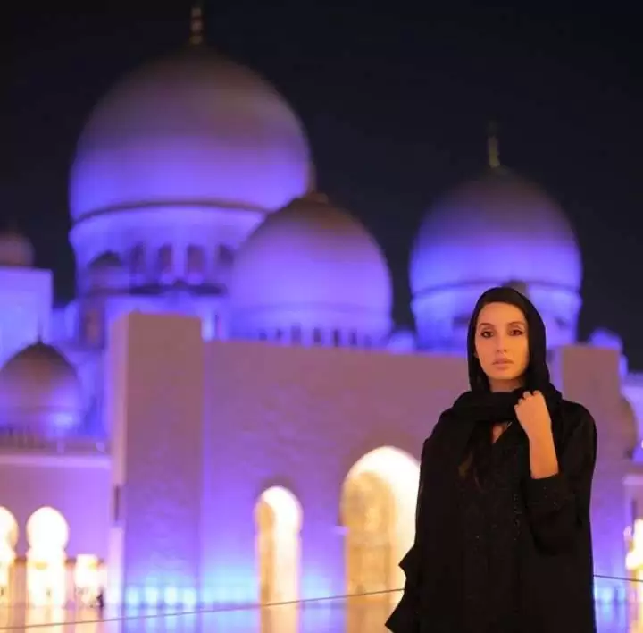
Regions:
[[310, 194], [268, 216], [239, 249], [230, 302], [240, 336], [291, 339], [295, 330], [303, 341], [377, 345], [390, 330], [391, 279], [363, 224]]

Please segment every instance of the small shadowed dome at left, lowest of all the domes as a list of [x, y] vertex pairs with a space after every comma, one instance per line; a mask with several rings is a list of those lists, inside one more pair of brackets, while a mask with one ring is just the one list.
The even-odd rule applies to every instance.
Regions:
[[29, 345], [0, 370], [3, 426], [41, 435], [63, 435], [79, 424], [82, 408], [76, 370], [51, 345]]

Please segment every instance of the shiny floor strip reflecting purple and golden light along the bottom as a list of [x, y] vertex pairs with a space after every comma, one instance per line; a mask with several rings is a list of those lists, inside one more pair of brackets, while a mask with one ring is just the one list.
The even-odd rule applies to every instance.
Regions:
[[[34, 633], [388, 633], [388, 596], [248, 609], [126, 613], [0, 607], [0, 630]], [[643, 633], [643, 604], [597, 604], [598, 633]]]

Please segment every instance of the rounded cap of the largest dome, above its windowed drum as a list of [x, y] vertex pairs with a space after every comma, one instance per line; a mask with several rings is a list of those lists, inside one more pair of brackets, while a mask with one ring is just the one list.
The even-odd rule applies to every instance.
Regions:
[[310, 163], [301, 123], [269, 83], [192, 46], [131, 73], [97, 105], [71, 170], [71, 215], [271, 211], [308, 189]]

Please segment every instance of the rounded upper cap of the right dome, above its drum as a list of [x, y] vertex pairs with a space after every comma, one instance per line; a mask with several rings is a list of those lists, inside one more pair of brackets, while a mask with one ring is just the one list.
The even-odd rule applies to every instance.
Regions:
[[504, 168], [447, 194], [426, 216], [411, 257], [413, 295], [509, 280], [578, 291], [580, 249], [554, 199]]

